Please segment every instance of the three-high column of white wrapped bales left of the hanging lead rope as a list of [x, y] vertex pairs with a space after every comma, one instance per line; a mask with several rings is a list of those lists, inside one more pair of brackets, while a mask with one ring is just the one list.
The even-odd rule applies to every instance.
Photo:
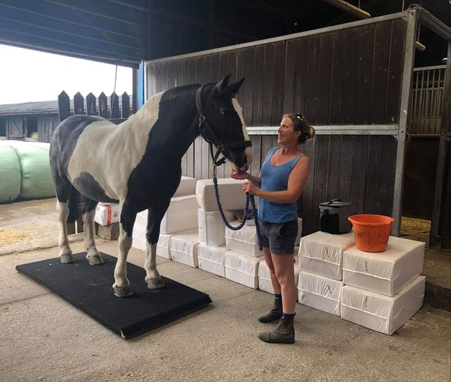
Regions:
[[[218, 179], [219, 197], [228, 222], [234, 212], [244, 209], [246, 197], [244, 181], [232, 178]], [[198, 267], [207, 272], [226, 277], [226, 225], [219, 213], [212, 179], [201, 179], [196, 185], [198, 205]], [[234, 224], [237, 225], [237, 224]]]

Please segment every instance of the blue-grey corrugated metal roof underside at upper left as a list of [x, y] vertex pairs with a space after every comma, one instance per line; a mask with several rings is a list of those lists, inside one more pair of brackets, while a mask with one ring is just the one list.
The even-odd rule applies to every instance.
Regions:
[[0, 43], [129, 67], [146, 57], [148, 0], [0, 0]]

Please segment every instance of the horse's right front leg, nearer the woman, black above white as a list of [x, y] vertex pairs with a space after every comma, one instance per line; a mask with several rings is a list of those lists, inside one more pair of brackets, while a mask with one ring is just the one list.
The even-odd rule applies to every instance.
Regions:
[[146, 283], [150, 289], [164, 288], [164, 281], [157, 270], [157, 243], [160, 237], [160, 224], [170, 202], [171, 200], [169, 199], [159, 204], [158, 207], [148, 209], [146, 261], [144, 262], [144, 269], [146, 269]]

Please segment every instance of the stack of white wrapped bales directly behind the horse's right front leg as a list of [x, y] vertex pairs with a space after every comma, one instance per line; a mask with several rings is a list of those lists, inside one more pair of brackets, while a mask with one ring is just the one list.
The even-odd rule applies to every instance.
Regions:
[[[198, 219], [196, 179], [182, 176], [160, 225], [157, 256], [197, 267]], [[132, 246], [146, 250], [147, 210], [137, 214]], [[176, 256], [172, 256], [172, 249]]]

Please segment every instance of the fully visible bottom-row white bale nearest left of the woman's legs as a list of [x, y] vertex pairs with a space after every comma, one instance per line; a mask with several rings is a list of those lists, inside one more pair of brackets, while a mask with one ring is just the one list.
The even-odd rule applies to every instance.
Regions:
[[257, 289], [260, 260], [262, 259], [239, 254], [235, 251], [226, 251], [224, 260], [226, 279]]

